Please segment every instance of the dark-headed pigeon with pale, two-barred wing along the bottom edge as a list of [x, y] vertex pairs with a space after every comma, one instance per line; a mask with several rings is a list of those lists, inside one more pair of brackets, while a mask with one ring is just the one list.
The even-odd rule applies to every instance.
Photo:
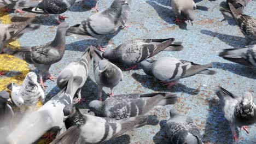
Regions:
[[137, 116], [120, 120], [82, 115], [74, 105], [67, 105], [63, 112], [66, 118], [65, 125], [67, 131], [57, 137], [51, 144], [99, 143], [120, 136], [134, 128], [144, 125], [155, 125], [156, 122], [155, 115]]

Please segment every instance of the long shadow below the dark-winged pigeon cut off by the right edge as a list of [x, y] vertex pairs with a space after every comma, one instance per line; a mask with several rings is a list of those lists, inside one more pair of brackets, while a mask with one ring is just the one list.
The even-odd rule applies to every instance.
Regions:
[[228, 70], [231, 73], [248, 77], [249, 79], [256, 79], [256, 73], [252, 68], [249, 68], [245, 65], [236, 64], [236, 63], [219, 63], [213, 62], [213, 68]]

